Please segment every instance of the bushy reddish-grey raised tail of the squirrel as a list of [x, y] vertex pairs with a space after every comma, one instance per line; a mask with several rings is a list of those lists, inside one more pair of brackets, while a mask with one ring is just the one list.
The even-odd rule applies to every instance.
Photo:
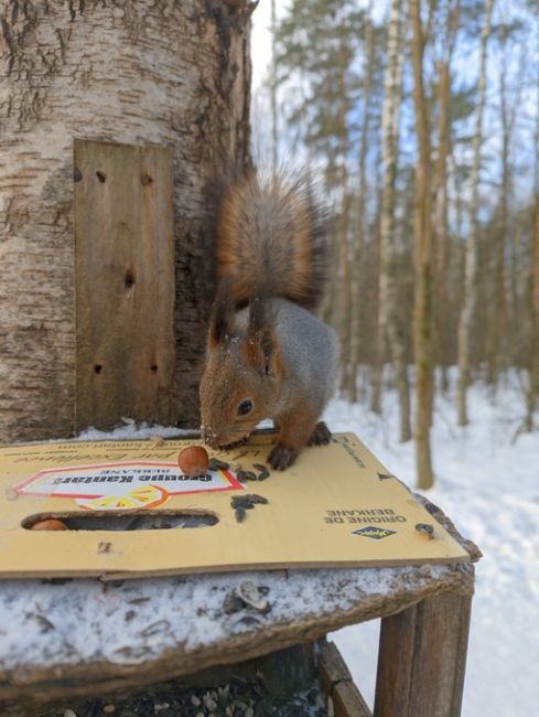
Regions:
[[249, 172], [222, 192], [217, 276], [236, 306], [281, 297], [314, 310], [326, 274], [327, 214], [306, 171]]

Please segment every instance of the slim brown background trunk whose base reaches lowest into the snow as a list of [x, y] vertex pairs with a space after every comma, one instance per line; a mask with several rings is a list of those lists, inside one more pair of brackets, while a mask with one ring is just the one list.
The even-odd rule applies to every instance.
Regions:
[[432, 417], [432, 193], [431, 139], [423, 86], [424, 38], [420, 0], [410, 0], [413, 107], [419, 159], [416, 168], [413, 349], [416, 355], [416, 462], [418, 486], [433, 482], [430, 428]]

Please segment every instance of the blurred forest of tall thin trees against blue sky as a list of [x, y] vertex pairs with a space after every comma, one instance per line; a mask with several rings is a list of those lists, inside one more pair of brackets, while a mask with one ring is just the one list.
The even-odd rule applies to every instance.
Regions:
[[465, 426], [470, 384], [495, 394], [510, 368], [520, 430], [537, 428], [539, 3], [274, 8], [255, 149], [270, 140], [272, 163], [309, 161], [323, 175], [339, 390], [378, 413], [384, 389], [398, 390], [400, 439], [414, 438], [428, 488], [436, 392], [454, 392]]

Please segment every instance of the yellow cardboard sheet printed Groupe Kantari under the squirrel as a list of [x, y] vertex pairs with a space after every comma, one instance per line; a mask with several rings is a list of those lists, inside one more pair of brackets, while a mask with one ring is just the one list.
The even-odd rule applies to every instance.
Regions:
[[[112, 579], [470, 560], [352, 434], [304, 449], [284, 472], [245, 483], [238, 482], [237, 470], [260, 474], [270, 450], [266, 437], [214, 453], [230, 469], [208, 472], [203, 480], [187, 479], [177, 468], [179, 451], [194, 443], [112, 440], [1, 448], [0, 577]], [[262, 495], [268, 504], [255, 505], [238, 522], [230, 499], [246, 493]], [[35, 516], [175, 512], [209, 514], [217, 522], [131, 531], [23, 527]], [[424, 525], [432, 526], [432, 534]]]

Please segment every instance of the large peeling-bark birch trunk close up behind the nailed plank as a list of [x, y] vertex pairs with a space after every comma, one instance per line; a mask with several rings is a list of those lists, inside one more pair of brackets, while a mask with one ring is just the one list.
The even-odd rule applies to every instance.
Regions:
[[174, 157], [177, 417], [198, 425], [211, 301], [205, 184], [247, 163], [247, 1], [0, 6], [0, 441], [74, 430], [75, 138]]

